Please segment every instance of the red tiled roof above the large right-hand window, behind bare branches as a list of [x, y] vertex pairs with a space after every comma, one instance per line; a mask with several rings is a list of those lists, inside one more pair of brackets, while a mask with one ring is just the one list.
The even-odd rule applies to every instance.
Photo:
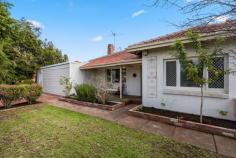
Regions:
[[[235, 29], [235, 26], [236, 26], [236, 21], [226, 21], [224, 23], [219, 23], [219, 24], [209, 24], [209, 25], [204, 25], [204, 26], [193, 27], [193, 28], [191, 28], [191, 30], [209, 36], [209, 35], [216, 35], [216, 34], [218, 35], [219, 33], [221, 33], [221, 34], [225, 33], [225, 31], [227, 31], [229, 29], [232, 29], [232, 28]], [[153, 39], [138, 42], [136, 44], [132, 44], [127, 48], [127, 51], [132, 52], [132, 49], [143, 47], [146, 45], [152, 45], [152, 44], [157, 45], [159, 43], [173, 41], [178, 38], [180, 38], [180, 39], [184, 38], [185, 34], [188, 30], [189, 29], [185, 29], [185, 30], [181, 30], [178, 32], [166, 34], [164, 36], [159, 36], [159, 37], [156, 37]]]

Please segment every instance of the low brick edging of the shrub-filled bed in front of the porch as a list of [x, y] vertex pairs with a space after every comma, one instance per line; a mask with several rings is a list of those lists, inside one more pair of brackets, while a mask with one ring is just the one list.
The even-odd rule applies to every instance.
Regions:
[[58, 100], [81, 105], [81, 106], [88, 106], [88, 107], [98, 108], [98, 109], [102, 109], [102, 110], [110, 110], [110, 111], [117, 110], [117, 109], [127, 105], [123, 102], [117, 103], [115, 105], [103, 105], [103, 104], [89, 103], [89, 102], [84, 102], [84, 101], [79, 101], [79, 100], [74, 100], [74, 99], [69, 99], [69, 98], [63, 98], [63, 97], [59, 98]]

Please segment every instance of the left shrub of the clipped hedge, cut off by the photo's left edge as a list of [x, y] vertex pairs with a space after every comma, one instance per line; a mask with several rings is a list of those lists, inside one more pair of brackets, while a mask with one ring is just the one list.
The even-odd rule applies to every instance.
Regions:
[[9, 108], [13, 101], [16, 101], [22, 97], [22, 86], [16, 85], [0, 85], [0, 100], [2, 104]]

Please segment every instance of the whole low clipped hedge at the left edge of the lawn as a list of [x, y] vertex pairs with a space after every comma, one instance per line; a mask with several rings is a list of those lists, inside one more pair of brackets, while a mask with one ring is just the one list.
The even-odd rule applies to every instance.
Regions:
[[0, 85], [0, 101], [9, 108], [12, 103], [25, 99], [29, 104], [35, 102], [42, 94], [42, 87], [37, 84], [31, 85]]

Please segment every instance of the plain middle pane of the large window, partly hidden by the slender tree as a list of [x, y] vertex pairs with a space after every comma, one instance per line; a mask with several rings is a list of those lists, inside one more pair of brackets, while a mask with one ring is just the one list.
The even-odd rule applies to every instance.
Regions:
[[[194, 65], [198, 64], [198, 60], [194, 58], [191, 59], [190, 62], [192, 62]], [[181, 87], [199, 87], [192, 80], [188, 80], [187, 74], [185, 73], [184, 68], [182, 66], [181, 66], [180, 77], [181, 77], [181, 81], [180, 81]]]

